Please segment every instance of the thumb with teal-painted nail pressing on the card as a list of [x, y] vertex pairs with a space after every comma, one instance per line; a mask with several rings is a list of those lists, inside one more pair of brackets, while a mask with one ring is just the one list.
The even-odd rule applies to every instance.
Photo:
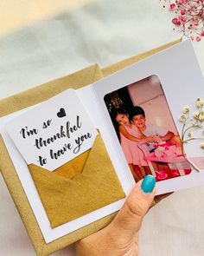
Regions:
[[139, 231], [144, 215], [148, 212], [156, 193], [156, 180], [152, 175], [144, 177], [133, 187], [131, 194], [124, 202], [124, 206], [112, 221], [112, 229], [116, 233], [123, 233], [128, 239]]

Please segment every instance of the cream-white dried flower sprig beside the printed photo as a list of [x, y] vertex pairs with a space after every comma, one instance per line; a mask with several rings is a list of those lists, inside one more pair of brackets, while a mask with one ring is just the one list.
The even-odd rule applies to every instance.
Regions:
[[[195, 102], [197, 111], [194, 112], [193, 116], [190, 116], [190, 108], [185, 106], [182, 109], [182, 115], [179, 118], [179, 121], [183, 123], [182, 125], [182, 154], [185, 154], [184, 144], [188, 141], [193, 140], [204, 140], [204, 131], [202, 130], [203, 136], [195, 137], [193, 130], [202, 129], [204, 125], [204, 101], [198, 98]], [[204, 149], [204, 142], [201, 143], [201, 148]], [[190, 164], [199, 171], [197, 167], [190, 161]]]

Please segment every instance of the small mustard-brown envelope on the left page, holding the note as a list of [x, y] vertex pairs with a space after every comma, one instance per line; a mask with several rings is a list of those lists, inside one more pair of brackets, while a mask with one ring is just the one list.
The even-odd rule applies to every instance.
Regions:
[[52, 228], [124, 198], [101, 135], [92, 148], [50, 172], [29, 165]]

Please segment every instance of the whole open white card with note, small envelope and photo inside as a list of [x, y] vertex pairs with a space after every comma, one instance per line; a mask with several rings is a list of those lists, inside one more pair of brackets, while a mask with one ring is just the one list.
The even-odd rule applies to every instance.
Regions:
[[190, 41], [0, 119], [46, 243], [117, 212], [134, 184], [204, 182], [204, 81]]

